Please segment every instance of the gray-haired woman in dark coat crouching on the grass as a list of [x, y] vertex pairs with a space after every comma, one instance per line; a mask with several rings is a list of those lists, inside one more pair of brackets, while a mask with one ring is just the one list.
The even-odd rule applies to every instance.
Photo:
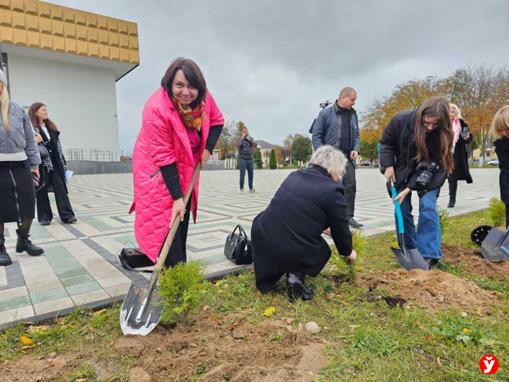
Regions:
[[338, 181], [345, 173], [346, 163], [340, 150], [328, 145], [320, 147], [309, 166], [291, 173], [267, 209], [254, 218], [252, 256], [260, 291], [272, 290], [286, 274], [291, 298], [313, 298], [304, 276], [317, 277], [330, 258], [322, 233], [332, 237], [340, 255], [356, 259], [345, 189]]

